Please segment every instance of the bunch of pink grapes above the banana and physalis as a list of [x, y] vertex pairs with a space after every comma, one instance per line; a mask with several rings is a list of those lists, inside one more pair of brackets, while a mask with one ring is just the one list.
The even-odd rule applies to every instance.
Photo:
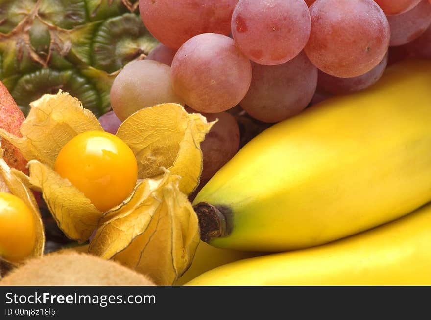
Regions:
[[238, 124], [225, 111], [239, 105], [276, 123], [313, 101], [373, 85], [393, 60], [390, 46], [399, 57], [431, 57], [431, 0], [140, 0], [139, 7], [161, 44], [120, 72], [113, 110], [123, 120], [177, 102], [218, 118], [211, 148], [203, 148], [205, 179], [239, 148]]

